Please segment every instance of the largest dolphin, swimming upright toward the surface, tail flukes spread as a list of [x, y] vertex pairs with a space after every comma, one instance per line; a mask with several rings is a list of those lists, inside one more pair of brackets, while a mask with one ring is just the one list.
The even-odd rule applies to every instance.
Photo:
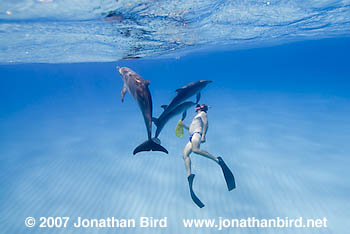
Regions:
[[133, 154], [135, 155], [142, 151], [161, 151], [168, 153], [163, 146], [152, 140], [152, 97], [148, 89], [150, 82], [142, 79], [141, 76], [128, 67], [117, 66], [117, 70], [124, 81], [124, 86], [120, 93], [122, 102], [124, 101], [126, 91], [128, 91], [140, 107], [147, 129], [148, 140], [137, 146]]

